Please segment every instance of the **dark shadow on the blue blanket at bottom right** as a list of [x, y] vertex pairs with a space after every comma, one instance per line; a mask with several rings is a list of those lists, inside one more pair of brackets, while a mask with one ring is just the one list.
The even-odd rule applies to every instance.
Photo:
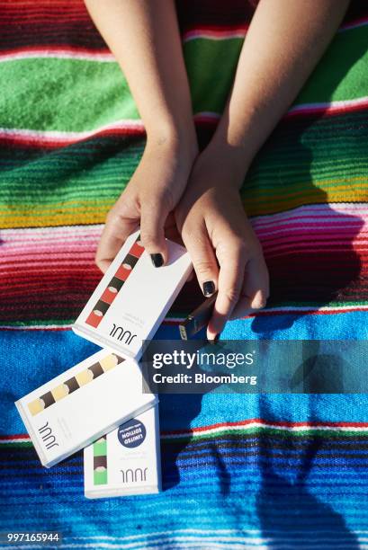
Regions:
[[[260, 412], [262, 418], [272, 418], [266, 399], [260, 401]], [[310, 422], [318, 420], [313, 413], [310, 414]], [[261, 448], [262, 439], [266, 438], [265, 434], [260, 435]], [[291, 452], [295, 451], [293, 444], [295, 442], [292, 443], [291, 439]], [[292, 468], [288, 468], [286, 461], [283, 462], [285, 466], [280, 466], [277, 461], [273, 465], [271, 461], [260, 460], [261, 488], [256, 497], [257, 516], [263, 536], [271, 539], [273, 544], [283, 545], [285, 539], [289, 539], [291, 545], [310, 543], [311, 546], [335, 548], [337, 544], [343, 543], [344, 548], [352, 550], [360, 547], [344, 518], [327, 502], [320, 501], [308, 491], [307, 480], [322, 444], [323, 439], [319, 436], [308, 439], [296, 474], [293, 474]], [[277, 472], [277, 468], [283, 468], [283, 473]], [[312, 523], [309, 519], [312, 519]]]

